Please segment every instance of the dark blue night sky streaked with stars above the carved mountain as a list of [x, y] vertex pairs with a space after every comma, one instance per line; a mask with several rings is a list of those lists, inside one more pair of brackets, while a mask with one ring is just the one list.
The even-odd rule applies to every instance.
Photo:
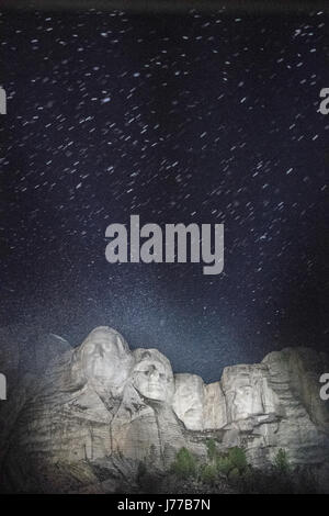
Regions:
[[[98, 325], [206, 381], [325, 349], [329, 18], [0, 16], [0, 325], [73, 346]], [[105, 228], [225, 224], [225, 268], [105, 260]]]

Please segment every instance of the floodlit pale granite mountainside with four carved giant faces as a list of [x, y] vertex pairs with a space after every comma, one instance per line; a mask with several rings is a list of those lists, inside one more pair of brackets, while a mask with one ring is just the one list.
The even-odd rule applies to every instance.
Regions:
[[208, 437], [219, 450], [243, 447], [256, 467], [280, 448], [294, 465], [320, 467], [329, 461], [326, 370], [327, 355], [286, 348], [205, 384], [173, 374], [157, 349], [132, 351], [116, 330], [95, 328], [44, 374], [29, 371], [1, 406], [3, 490], [132, 490], [140, 464], [161, 474], [183, 446], [205, 457]]

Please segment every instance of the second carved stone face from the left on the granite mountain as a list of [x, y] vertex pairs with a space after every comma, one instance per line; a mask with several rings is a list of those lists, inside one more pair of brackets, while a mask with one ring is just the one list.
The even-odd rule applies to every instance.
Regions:
[[136, 349], [132, 382], [149, 400], [170, 402], [173, 395], [173, 374], [169, 360], [157, 349]]

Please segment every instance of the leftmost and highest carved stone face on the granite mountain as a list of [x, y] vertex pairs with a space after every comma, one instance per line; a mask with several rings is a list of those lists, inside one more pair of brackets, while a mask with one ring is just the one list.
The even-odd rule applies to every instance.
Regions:
[[133, 357], [128, 345], [115, 329], [100, 326], [91, 332], [75, 356], [73, 368], [82, 371], [100, 390], [123, 388]]

